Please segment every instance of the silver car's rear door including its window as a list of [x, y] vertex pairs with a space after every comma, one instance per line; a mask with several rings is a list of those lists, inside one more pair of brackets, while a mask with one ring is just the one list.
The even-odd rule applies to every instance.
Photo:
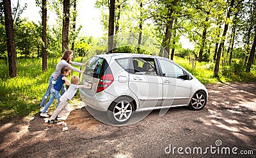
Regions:
[[140, 109], [159, 106], [163, 96], [163, 80], [156, 71], [155, 58], [134, 57], [129, 73], [129, 89], [138, 97]]

